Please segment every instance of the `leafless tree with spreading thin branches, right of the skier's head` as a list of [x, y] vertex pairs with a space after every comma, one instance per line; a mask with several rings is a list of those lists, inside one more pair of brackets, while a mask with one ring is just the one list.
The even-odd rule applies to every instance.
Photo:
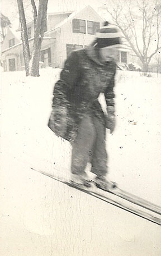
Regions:
[[[110, 8], [111, 6], [111, 8]], [[159, 0], [108, 0], [106, 11], [120, 27], [132, 51], [148, 71], [151, 58], [160, 49], [161, 4]]]

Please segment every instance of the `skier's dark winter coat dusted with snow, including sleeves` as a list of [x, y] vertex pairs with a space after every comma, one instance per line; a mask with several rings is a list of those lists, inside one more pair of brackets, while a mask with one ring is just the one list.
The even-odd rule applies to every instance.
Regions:
[[54, 87], [55, 134], [73, 141], [86, 113], [97, 116], [105, 124], [97, 98], [104, 93], [107, 106], [114, 106], [115, 72], [116, 63], [102, 64], [92, 45], [70, 54]]

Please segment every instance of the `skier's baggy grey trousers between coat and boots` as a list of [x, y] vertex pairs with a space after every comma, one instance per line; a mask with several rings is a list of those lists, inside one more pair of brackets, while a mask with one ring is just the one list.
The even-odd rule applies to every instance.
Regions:
[[107, 173], [106, 127], [96, 116], [86, 116], [72, 143], [72, 173], [82, 174], [88, 162], [91, 172], [105, 176]]

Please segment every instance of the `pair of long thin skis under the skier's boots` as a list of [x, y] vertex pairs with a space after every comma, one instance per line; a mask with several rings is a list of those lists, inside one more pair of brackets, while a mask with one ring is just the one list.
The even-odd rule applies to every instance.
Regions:
[[74, 189], [92, 195], [95, 198], [101, 199], [104, 202], [110, 203], [112, 205], [115, 205], [116, 207], [124, 209], [125, 211], [133, 213], [136, 216], [142, 217], [148, 221], [161, 225], [161, 207], [151, 202], [148, 202], [147, 200], [144, 200], [139, 196], [130, 194], [127, 191], [124, 191], [119, 188], [112, 189], [111, 191], [103, 191], [101, 189], [96, 188], [96, 186], [93, 186], [92, 188], [89, 189], [86, 187], [82, 188], [82, 186], [74, 184], [69, 180], [56, 177], [39, 170], [35, 170], [32, 167], [31, 169], [40, 172], [41, 174], [46, 175], [65, 185], [68, 185]]

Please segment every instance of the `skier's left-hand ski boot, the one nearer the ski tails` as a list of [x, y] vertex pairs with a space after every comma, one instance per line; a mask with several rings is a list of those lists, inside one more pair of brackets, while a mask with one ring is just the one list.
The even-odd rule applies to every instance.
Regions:
[[87, 173], [71, 173], [70, 182], [71, 184], [78, 186], [79, 188], [91, 188], [91, 180], [88, 179]]

